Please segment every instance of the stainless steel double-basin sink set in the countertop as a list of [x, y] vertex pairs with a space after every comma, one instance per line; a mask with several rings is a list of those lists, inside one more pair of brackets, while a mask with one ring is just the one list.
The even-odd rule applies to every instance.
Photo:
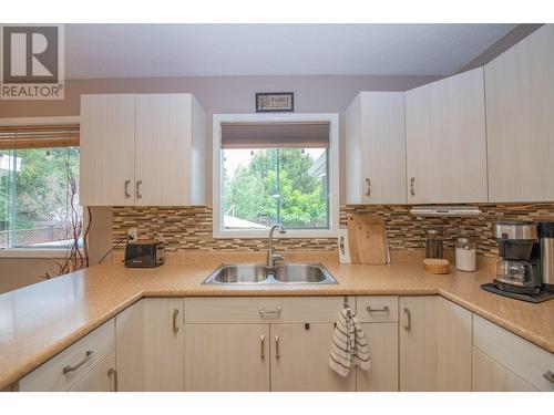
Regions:
[[203, 284], [336, 284], [338, 283], [321, 263], [281, 263], [273, 268], [263, 263], [222, 264]]

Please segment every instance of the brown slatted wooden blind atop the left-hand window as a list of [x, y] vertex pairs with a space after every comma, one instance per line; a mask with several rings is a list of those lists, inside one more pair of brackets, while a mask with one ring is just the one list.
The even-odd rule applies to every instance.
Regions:
[[79, 124], [0, 126], [0, 149], [79, 145]]

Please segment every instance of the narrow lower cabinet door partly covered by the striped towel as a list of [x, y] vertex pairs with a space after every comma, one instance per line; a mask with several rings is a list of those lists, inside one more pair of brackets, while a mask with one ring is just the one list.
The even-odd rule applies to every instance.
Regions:
[[356, 372], [357, 390], [360, 392], [398, 391], [398, 322], [365, 323], [368, 338], [371, 369]]

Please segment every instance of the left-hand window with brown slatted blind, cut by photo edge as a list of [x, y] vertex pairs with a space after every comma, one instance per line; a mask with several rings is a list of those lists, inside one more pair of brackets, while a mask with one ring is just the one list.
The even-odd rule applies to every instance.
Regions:
[[0, 249], [71, 247], [79, 160], [79, 125], [0, 126]]

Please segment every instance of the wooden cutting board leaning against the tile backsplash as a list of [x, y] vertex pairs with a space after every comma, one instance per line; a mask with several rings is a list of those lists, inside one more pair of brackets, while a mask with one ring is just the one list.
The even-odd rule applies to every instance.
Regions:
[[384, 220], [379, 215], [348, 215], [348, 240], [352, 263], [384, 264], [389, 249]]

